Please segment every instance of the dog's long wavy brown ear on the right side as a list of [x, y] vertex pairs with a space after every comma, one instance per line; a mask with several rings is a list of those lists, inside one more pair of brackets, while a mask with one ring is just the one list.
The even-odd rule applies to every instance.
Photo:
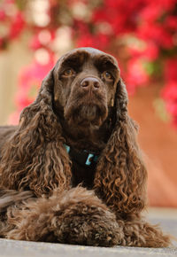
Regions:
[[116, 123], [96, 167], [95, 190], [118, 217], [138, 214], [146, 204], [146, 168], [136, 142], [137, 126], [127, 114], [127, 90], [120, 79]]

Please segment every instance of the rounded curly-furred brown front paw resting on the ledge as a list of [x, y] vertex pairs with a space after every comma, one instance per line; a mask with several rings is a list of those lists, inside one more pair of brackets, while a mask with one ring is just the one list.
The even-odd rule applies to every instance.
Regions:
[[58, 242], [76, 245], [119, 245], [121, 233], [115, 215], [100, 206], [77, 203], [55, 216], [53, 232]]

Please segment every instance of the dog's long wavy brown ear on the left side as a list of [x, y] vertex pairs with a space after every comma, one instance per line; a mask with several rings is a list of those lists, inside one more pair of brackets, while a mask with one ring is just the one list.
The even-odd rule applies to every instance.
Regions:
[[51, 70], [35, 102], [21, 113], [19, 128], [2, 154], [2, 187], [30, 189], [40, 196], [58, 186], [64, 189], [69, 186], [70, 163], [63, 146], [61, 126], [52, 109], [53, 86]]

